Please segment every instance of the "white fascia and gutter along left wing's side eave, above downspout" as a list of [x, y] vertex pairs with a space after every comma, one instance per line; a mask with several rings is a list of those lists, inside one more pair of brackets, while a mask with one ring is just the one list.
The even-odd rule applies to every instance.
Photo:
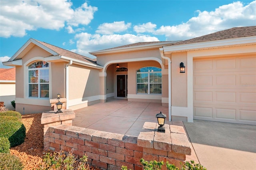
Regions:
[[70, 57], [66, 57], [66, 56], [64, 56], [64, 55], [56, 55], [56, 56], [46, 57], [46, 58], [45, 58], [45, 61], [51, 61], [51, 60], [56, 60], [56, 59], [63, 59], [63, 60], [65, 60], [65, 61], [70, 61], [70, 60], [72, 60], [74, 63], [76, 63], [76, 64], [78, 64], [78, 65], [84, 65], [84, 66], [92, 67], [92, 68], [96, 68], [96, 69], [102, 69], [102, 68], [103, 68], [103, 67], [100, 66], [100, 65], [88, 63], [88, 62], [85, 62], [85, 61], [80, 61], [80, 60], [78, 60], [78, 59], [73, 59], [73, 58], [70, 58]]

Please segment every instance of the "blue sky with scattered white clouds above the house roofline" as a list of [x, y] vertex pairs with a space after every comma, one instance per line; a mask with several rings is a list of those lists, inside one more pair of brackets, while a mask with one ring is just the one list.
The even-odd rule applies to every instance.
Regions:
[[0, 0], [0, 61], [29, 38], [93, 58], [88, 52], [255, 25], [256, 0]]

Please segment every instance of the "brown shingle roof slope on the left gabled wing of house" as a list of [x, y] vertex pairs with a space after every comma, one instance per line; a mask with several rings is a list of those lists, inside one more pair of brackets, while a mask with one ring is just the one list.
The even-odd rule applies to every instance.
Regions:
[[[35, 40], [35, 39], [33, 39]], [[74, 53], [72, 51], [68, 51], [66, 49], [63, 49], [63, 48], [60, 48], [60, 47], [57, 47], [55, 45], [51, 45], [49, 43], [46, 43], [46, 42], [41, 42], [41, 41], [38, 41], [38, 40], [35, 40], [37, 41], [38, 43], [48, 47], [49, 49], [55, 51], [56, 53], [58, 53], [59, 55], [64, 55], [66, 57], [70, 57], [70, 58], [73, 58], [73, 59], [78, 59], [80, 61], [85, 61], [85, 62], [88, 62], [88, 63], [92, 63], [92, 64], [97, 64], [96, 63], [96, 59], [91, 59], [89, 57], [86, 57], [86, 56], [83, 56], [83, 55], [80, 55], [80, 54], [77, 54], [77, 53]]]

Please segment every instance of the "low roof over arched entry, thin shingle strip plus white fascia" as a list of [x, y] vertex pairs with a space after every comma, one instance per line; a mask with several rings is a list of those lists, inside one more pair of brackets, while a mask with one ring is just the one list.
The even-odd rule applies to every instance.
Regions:
[[162, 42], [138, 42], [138, 43], [132, 43], [128, 45], [122, 45], [118, 47], [108, 48], [108, 49], [102, 49], [99, 51], [93, 51], [89, 52], [92, 55], [98, 55], [98, 54], [105, 54], [105, 53], [117, 53], [117, 52], [124, 52], [124, 51], [134, 51], [134, 50], [142, 50], [142, 49], [152, 49], [152, 48], [159, 48], [166, 45], [172, 45], [176, 42], [180, 41], [162, 41]]

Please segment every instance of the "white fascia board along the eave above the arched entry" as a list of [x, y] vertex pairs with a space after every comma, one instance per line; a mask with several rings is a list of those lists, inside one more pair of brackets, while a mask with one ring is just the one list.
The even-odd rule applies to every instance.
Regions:
[[98, 55], [98, 54], [118, 53], [118, 52], [124, 52], [124, 51], [132, 51], [132, 50], [159, 48], [159, 47], [162, 47], [164, 45], [169, 45], [169, 44], [176, 43], [176, 42], [180, 42], [180, 41], [162, 42], [162, 43], [157, 43], [157, 44], [136, 45], [136, 46], [130, 46], [130, 47], [122, 47], [122, 48], [114, 48], [114, 49], [93, 51], [93, 52], [89, 52], [89, 53], [92, 54], [92, 55]]

